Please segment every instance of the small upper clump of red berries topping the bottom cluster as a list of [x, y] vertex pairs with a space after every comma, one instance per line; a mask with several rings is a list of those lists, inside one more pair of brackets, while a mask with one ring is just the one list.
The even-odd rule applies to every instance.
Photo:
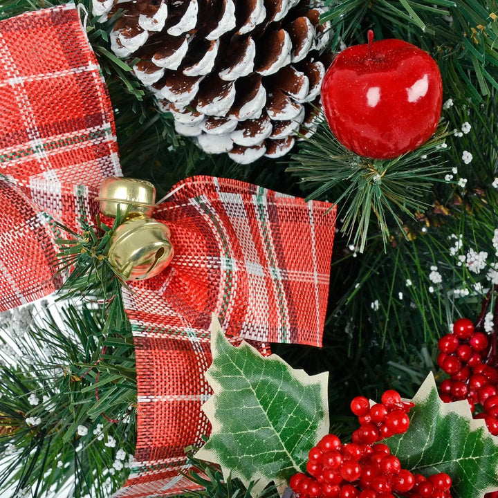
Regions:
[[356, 396], [351, 401], [351, 412], [358, 416], [360, 428], [353, 432], [353, 443], [373, 444], [392, 436], [403, 434], [409, 426], [407, 413], [414, 403], [402, 401], [396, 391], [385, 391], [382, 403], [370, 406], [364, 396]]

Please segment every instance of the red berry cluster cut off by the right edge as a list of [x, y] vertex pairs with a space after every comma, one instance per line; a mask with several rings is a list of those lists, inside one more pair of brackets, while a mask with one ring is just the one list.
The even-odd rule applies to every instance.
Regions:
[[472, 412], [479, 403], [483, 412], [475, 418], [483, 418], [488, 430], [498, 435], [498, 369], [487, 364], [488, 336], [475, 331], [468, 318], [459, 318], [453, 324], [453, 333], [439, 340], [438, 365], [449, 379], [439, 387], [445, 403], [468, 400]]

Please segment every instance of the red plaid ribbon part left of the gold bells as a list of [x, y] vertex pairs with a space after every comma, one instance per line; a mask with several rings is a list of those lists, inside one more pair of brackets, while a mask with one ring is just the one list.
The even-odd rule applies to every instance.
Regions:
[[[53, 220], [76, 229], [120, 174], [111, 102], [74, 5], [0, 22], [0, 311], [55, 291]], [[84, 187], [79, 187], [84, 185]]]

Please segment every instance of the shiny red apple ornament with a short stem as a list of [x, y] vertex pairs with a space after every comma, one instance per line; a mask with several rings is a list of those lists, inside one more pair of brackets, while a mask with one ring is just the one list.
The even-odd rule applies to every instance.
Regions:
[[335, 137], [359, 156], [394, 159], [436, 131], [443, 84], [427, 53], [399, 39], [343, 50], [322, 82], [325, 116]]

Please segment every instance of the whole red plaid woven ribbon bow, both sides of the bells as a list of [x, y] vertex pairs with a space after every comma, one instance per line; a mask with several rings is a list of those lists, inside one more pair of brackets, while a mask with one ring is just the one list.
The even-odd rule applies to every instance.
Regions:
[[[78, 229], [120, 175], [111, 103], [73, 5], [0, 23], [0, 309], [55, 291], [53, 220]], [[137, 466], [116, 497], [192, 488], [183, 450], [210, 432], [201, 405], [211, 313], [237, 342], [320, 346], [335, 210], [223, 178], [189, 178], [154, 217], [175, 257], [125, 293], [136, 345]]]

